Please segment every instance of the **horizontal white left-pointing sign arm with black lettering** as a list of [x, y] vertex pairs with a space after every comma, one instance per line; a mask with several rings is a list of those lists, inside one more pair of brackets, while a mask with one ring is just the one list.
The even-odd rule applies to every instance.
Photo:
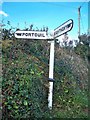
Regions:
[[25, 39], [47, 39], [45, 31], [16, 31], [16, 38], [25, 38]]

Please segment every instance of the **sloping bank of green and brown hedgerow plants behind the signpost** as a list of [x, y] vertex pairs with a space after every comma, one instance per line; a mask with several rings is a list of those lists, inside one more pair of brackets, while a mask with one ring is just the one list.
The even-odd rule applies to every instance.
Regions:
[[88, 118], [87, 55], [79, 46], [70, 54], [55, 45], [53, 109], [48, 109], [49, 49], [47, 41], [2, 41], [3, 120]]

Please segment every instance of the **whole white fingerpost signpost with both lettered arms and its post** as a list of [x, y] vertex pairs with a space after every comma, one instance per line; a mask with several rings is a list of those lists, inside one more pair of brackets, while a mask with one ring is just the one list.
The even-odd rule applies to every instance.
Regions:
[[45, 31], [16, 31], [16, 38], [23, 39], [39, 39], [39, 40], [50, 40], [50, 60], [49, 60], [49, 93], [48, 93], [48, 108], [52, 109], [52, 98], [53, 98], [53, 71], [54, 71], [54, 44], [55, 39], [67, 32], [73, 27], [73, 20], [70, 19], [63, 23], [61, 26], [54, 29], [53, 37], [49, 38]]

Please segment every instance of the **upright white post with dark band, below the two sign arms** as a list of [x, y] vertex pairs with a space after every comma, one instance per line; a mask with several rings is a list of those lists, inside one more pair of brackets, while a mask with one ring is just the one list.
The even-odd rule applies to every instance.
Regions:
[[48, 108], [52, 109], [53, 97], [53, 71], [54, 71], [54, 40], [50, 41], [50, 61], [49, 61], [49, 93], [48, 93]]

